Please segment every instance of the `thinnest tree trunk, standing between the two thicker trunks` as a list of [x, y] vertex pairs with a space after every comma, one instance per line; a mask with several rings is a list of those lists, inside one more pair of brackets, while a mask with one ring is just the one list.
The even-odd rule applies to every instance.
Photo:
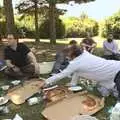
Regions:
[[38, 27], [38, 0], [35, 0], [35, 32], [36, 43], [39, 42], [39, 27]]

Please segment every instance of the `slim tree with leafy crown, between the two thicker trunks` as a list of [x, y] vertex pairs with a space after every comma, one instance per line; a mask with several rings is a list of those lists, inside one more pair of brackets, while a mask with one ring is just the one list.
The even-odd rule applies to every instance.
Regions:
[[16, 6], [19, 11], [19, 14], [22, 14], [22, 18], [25, 15], [34, 15], [35, 18], [35, 31], [36, 31], [36, 42], [39, 42], [39, 22], [38, 15], [43, 12], [43, 8], [47, 6], [43, 6], [41, 0], [23, 0]]

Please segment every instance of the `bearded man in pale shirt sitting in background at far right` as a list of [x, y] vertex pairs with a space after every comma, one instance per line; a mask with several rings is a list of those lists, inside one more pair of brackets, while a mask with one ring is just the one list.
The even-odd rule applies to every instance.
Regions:
[[118, 45], [113, 40], [113, 35], [109, 34], [107, 40], [103, 43], [104, 49], [104, 58], [111, 59], [111, 60], [119, 60], [117, 55], [120, 54], [118, 50]]

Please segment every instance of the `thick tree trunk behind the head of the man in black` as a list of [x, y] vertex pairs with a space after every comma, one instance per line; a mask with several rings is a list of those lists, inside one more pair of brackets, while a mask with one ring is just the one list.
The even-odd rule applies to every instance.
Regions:
[[15, 31], [12, 0], [3, 0], [3, 1], [4, 1], [4, 9], [5, 9], [5, 17], [6, 17], [7, 34], [15, 34], [16, 31]]

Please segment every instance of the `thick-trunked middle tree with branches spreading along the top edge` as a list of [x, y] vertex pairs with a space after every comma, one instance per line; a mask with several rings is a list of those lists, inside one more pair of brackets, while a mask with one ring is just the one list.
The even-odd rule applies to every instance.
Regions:
[[[21, 8], [24, 9], [25, 6], [27, 6], [27, 9], [24, 9], [24, 11], [26, 12], [28, 10], [28, 8], [35, 8], [35, 1], [36, 0], [23, 0], [24, 2], [22, 2]], [[87, 3], [90, 1], [94, 1], [94, 0], [37, 0], [38, 1], [38, 6], [40, 4], [46, 5], [49, 4], [49, 25], [50, 25], [50, 42], [52, 44], [56, 43], [56, 4], [60, 4], [60, 3], [69, 3], [70, 1], [75, 1], [75, 3]], [[33, 4], [34, 3], [34, 4]], [[39, 4], [40, 3], [40, 4]], [[24, 7], [23, 7], [24, 6]], [[31, 9], [32, 10], [32, 9]], [[36, 9], [37, 10], [37, 9]], [[59, 17], [59, 16], [57, 16]], [[36, 24], [37, 25], [37, 24]]]

